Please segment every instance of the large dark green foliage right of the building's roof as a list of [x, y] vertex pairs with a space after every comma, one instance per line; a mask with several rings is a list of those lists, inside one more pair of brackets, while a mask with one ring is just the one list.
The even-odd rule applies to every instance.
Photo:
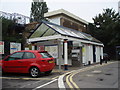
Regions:
[[120, 15], [113, 9], [104, 9], [102, 14], [93, 18], [89, 25], [90, 33], [104, 45], [120, 45]]

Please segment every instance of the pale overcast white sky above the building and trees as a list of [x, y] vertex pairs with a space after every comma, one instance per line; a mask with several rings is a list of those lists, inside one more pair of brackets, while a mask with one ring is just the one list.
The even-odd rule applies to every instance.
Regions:
[[[65, 9], [70, 13], [93, 22], [92, 18], [103, 12], [103, 9], [113, 8], [118, 12], [120, 0], [44, 0], [50, 11]], [[0, 11], [19, 13], [30, 16], [32, 0], [0, 0]]]

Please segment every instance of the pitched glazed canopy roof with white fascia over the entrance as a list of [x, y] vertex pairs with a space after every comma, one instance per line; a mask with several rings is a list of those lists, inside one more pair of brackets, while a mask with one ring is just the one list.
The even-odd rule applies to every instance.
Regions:
[[59, 26], [50, 22], [42, 21], [29, 36], [28, 42], [38, 42], [53, 39], [67, 39], [83, 43], [103, 46], [102, 42], [89, 34]]

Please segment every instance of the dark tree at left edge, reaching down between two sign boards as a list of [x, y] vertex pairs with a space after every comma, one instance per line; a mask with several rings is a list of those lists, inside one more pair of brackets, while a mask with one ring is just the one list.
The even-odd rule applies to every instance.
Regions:
[[15, 23], [14, 20], [7, 19], [5, 17], [0, 17], [2, 24], [2, 41], [4, 41], [4, 51], [3, 56], [10, 54], [10, 42], [23, 43], [23, 37], [20, 35], [24, 31], [24, 27]]

